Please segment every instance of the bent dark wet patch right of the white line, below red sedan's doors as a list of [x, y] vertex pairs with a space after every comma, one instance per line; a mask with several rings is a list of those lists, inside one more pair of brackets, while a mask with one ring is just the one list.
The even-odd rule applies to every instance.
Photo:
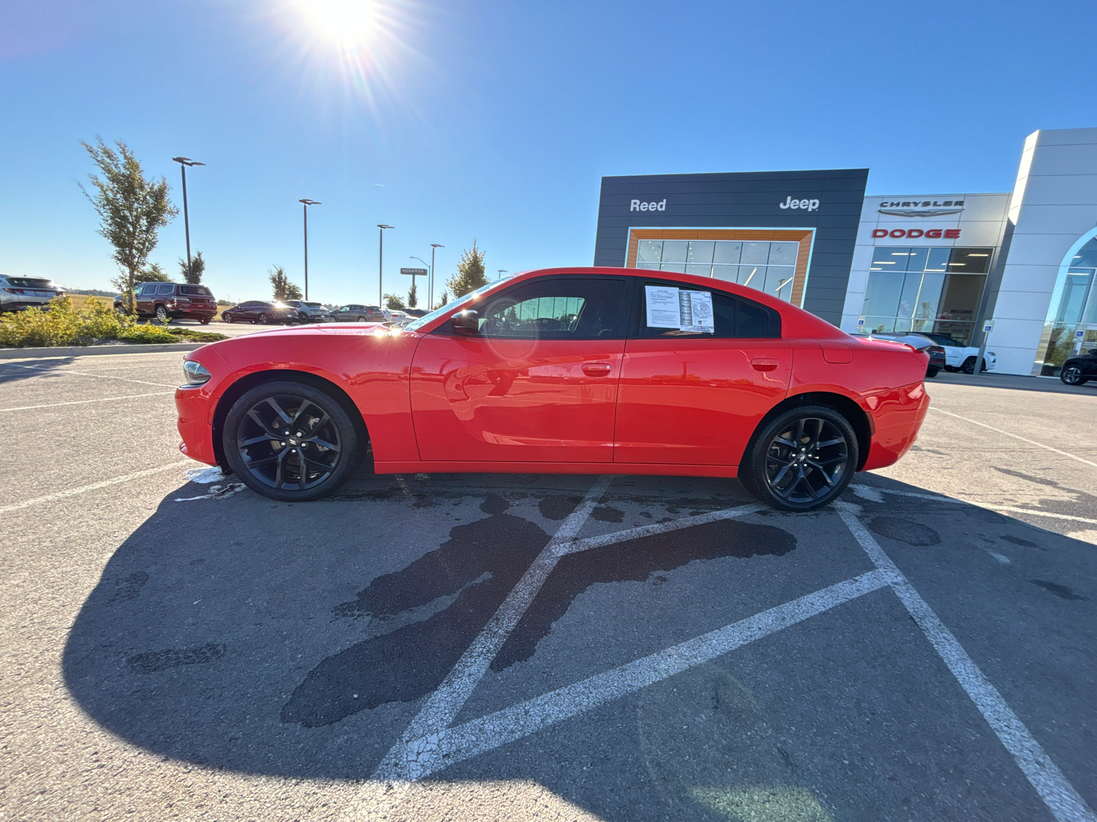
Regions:
[[[569, 553], [559, 560], [514, 632], [491, 661], [491, 670], [502, 671], [532, 657], [538, 642], [552, 630], [553, 623], [567, 613], [576, 596], [596, 583], [645, 582], [657, 571], [672, 571], [695, 560], [781, 557], [795, 547], [796, 538], [781, 528], [717, 520]], [[656, 582], [666, 579], [657, 576]]]

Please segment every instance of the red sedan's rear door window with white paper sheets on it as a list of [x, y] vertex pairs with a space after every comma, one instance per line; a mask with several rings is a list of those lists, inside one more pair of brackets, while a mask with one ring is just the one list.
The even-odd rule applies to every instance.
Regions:
[[665, 279], [640, 284], [634, 335], [640, 338], [766, 339], [781, 336], [781, 315], [726, 292]]

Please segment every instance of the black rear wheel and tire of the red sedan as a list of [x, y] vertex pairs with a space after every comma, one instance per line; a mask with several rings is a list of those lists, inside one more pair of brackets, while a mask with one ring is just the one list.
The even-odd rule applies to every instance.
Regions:
[[790, 408], [755, 432], [739, 481], [778, 511], [814, 511], [846, 490], [858, 457], [845, 416], [824, 406]]

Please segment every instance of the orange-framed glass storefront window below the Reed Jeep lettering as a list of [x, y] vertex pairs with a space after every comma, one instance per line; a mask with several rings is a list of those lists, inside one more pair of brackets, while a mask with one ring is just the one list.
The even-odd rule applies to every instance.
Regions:
[[676, 271], [738, 283], [792, 300], [799, 242], [640, 240], [636, 267]]

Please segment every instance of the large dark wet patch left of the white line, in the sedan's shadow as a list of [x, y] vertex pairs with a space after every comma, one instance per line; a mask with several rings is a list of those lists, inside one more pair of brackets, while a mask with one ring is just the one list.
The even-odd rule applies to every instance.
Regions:
[[[575, 503], [569, 504], [574, 510]], [[490, 516], [454, 526], [439, 548], [402, 571], [376, 578], [353, 602], [338, 606], [337, 617], [385, 619], [457, 594], [427, 619], [323, 660], [294, 689], [282, 721], [318, 728], [385, 703], [414, 701], [441, 685], [548, 544], [544, 530], [505, 513], [508, 507], [502, 496], [489, 494], [480, 510]]]

